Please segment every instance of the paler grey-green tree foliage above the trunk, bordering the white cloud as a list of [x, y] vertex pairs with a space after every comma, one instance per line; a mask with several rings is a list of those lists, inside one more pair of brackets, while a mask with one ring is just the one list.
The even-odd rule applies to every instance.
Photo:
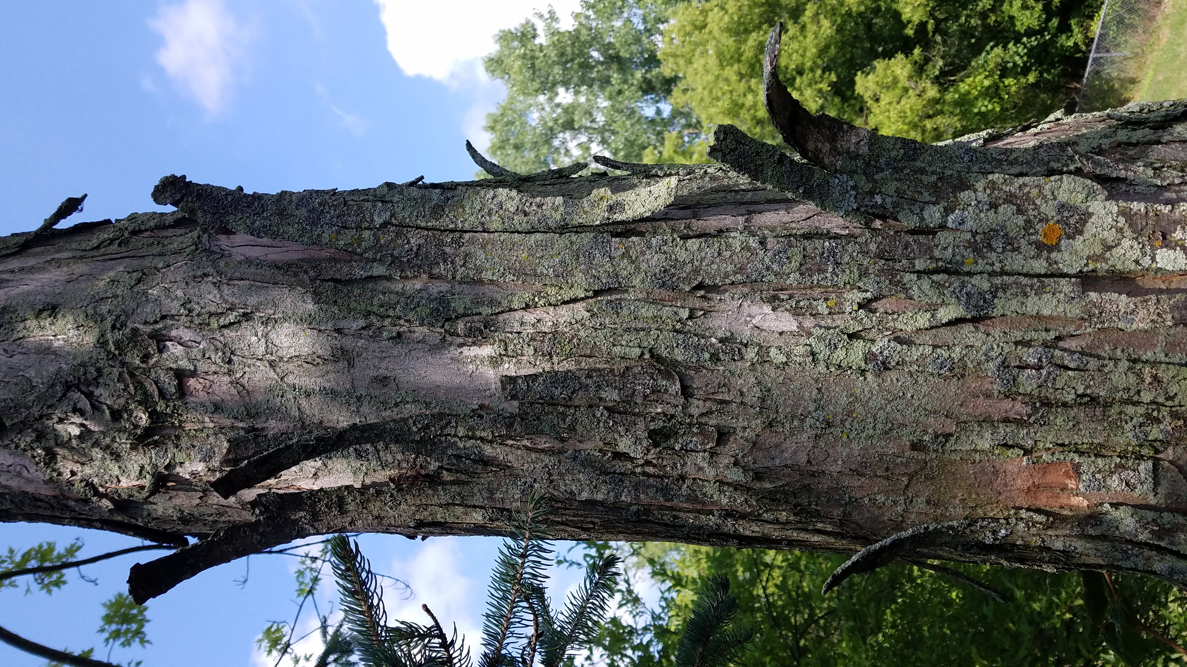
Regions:
[[601, 151], [640, 161], [668, 132], [699, 127], [673, 109], [674, 75], [660, 69], [658, 42], [674, 0], [584, 0], [571, 30], [556, 12], [501, 31], [485, 61], [507, 97], [487, 119], [489, 152], [528, 173], [588, 160]]

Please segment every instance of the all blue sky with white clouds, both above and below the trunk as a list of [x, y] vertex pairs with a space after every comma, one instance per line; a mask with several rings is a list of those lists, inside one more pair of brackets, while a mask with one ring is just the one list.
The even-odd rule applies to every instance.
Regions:
[[[68, 196], [87, 208], [64, 224], [160, 210], [157, 180], [274, 192], [385, 180], [468, 179], [463, 148], [483, 145], [502, 95], [481, 71], [491, 36], [538, 0], [0, 0], [0, 235], [36, 228]], [[553, 0], [561, 15], [576, 0]], [[0, 548], [81, 536], [83, 555], [139, 544], [122, 535], [0, 523]], [[481, 624], [497, 540], [373, 535], [376, 570], [412, 584], [388, 601], [419, 620], [429, 602], [463, 630]], [[145, 555], [88, 566], [47, 597], [0, 591], [0, 625], [56, 647], [101, 648], [100, 602]], [[265, 665], [253, 641], [291, 618], [294, 559], [236, 561], [150, 602], [152, 646], [116, 649], [146, 667]], [[559, 573], [563, 592], [576, 571]], [[329, 592], [323, 598], [330, 602]], [[476, 641], [477, 636], [471, 635]], [[100, 650], [99, 658], [103, 658]], [[43, 660], [0, 644], [0, 665]]]

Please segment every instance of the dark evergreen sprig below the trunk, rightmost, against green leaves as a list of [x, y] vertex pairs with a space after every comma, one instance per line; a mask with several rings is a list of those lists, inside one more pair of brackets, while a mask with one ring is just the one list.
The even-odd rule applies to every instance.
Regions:
[[730, 595], [730, 580], [724, 574], [713, 574], [697, 593], [692, 615], [680, 634], [677, 646], [677, 667], [718, 667], [734, 661], [754, 631], [736, 628], [734, 615], [737, 598]]

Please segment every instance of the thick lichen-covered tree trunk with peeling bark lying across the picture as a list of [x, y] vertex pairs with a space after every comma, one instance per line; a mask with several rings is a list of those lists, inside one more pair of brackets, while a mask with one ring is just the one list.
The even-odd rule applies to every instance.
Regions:
[[560, 538], [939, 525], [901, 554], [1187, 583], [1187, 102], [837, 128], [627, 176], [165, 177], [176, 212], [2, 239], [0, 520], [197, 536], [141, 601], [532, 489]]

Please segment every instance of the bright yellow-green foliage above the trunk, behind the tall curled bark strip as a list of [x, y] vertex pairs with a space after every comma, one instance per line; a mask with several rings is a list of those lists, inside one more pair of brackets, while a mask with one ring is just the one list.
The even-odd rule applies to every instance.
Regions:
[[704, 122], [768, 141], [762, 53], [813, 113], [938, 141], [1043, 117], [1074, 96], [1098, 0], [707, 0], [673, 11], [660, 58]]

